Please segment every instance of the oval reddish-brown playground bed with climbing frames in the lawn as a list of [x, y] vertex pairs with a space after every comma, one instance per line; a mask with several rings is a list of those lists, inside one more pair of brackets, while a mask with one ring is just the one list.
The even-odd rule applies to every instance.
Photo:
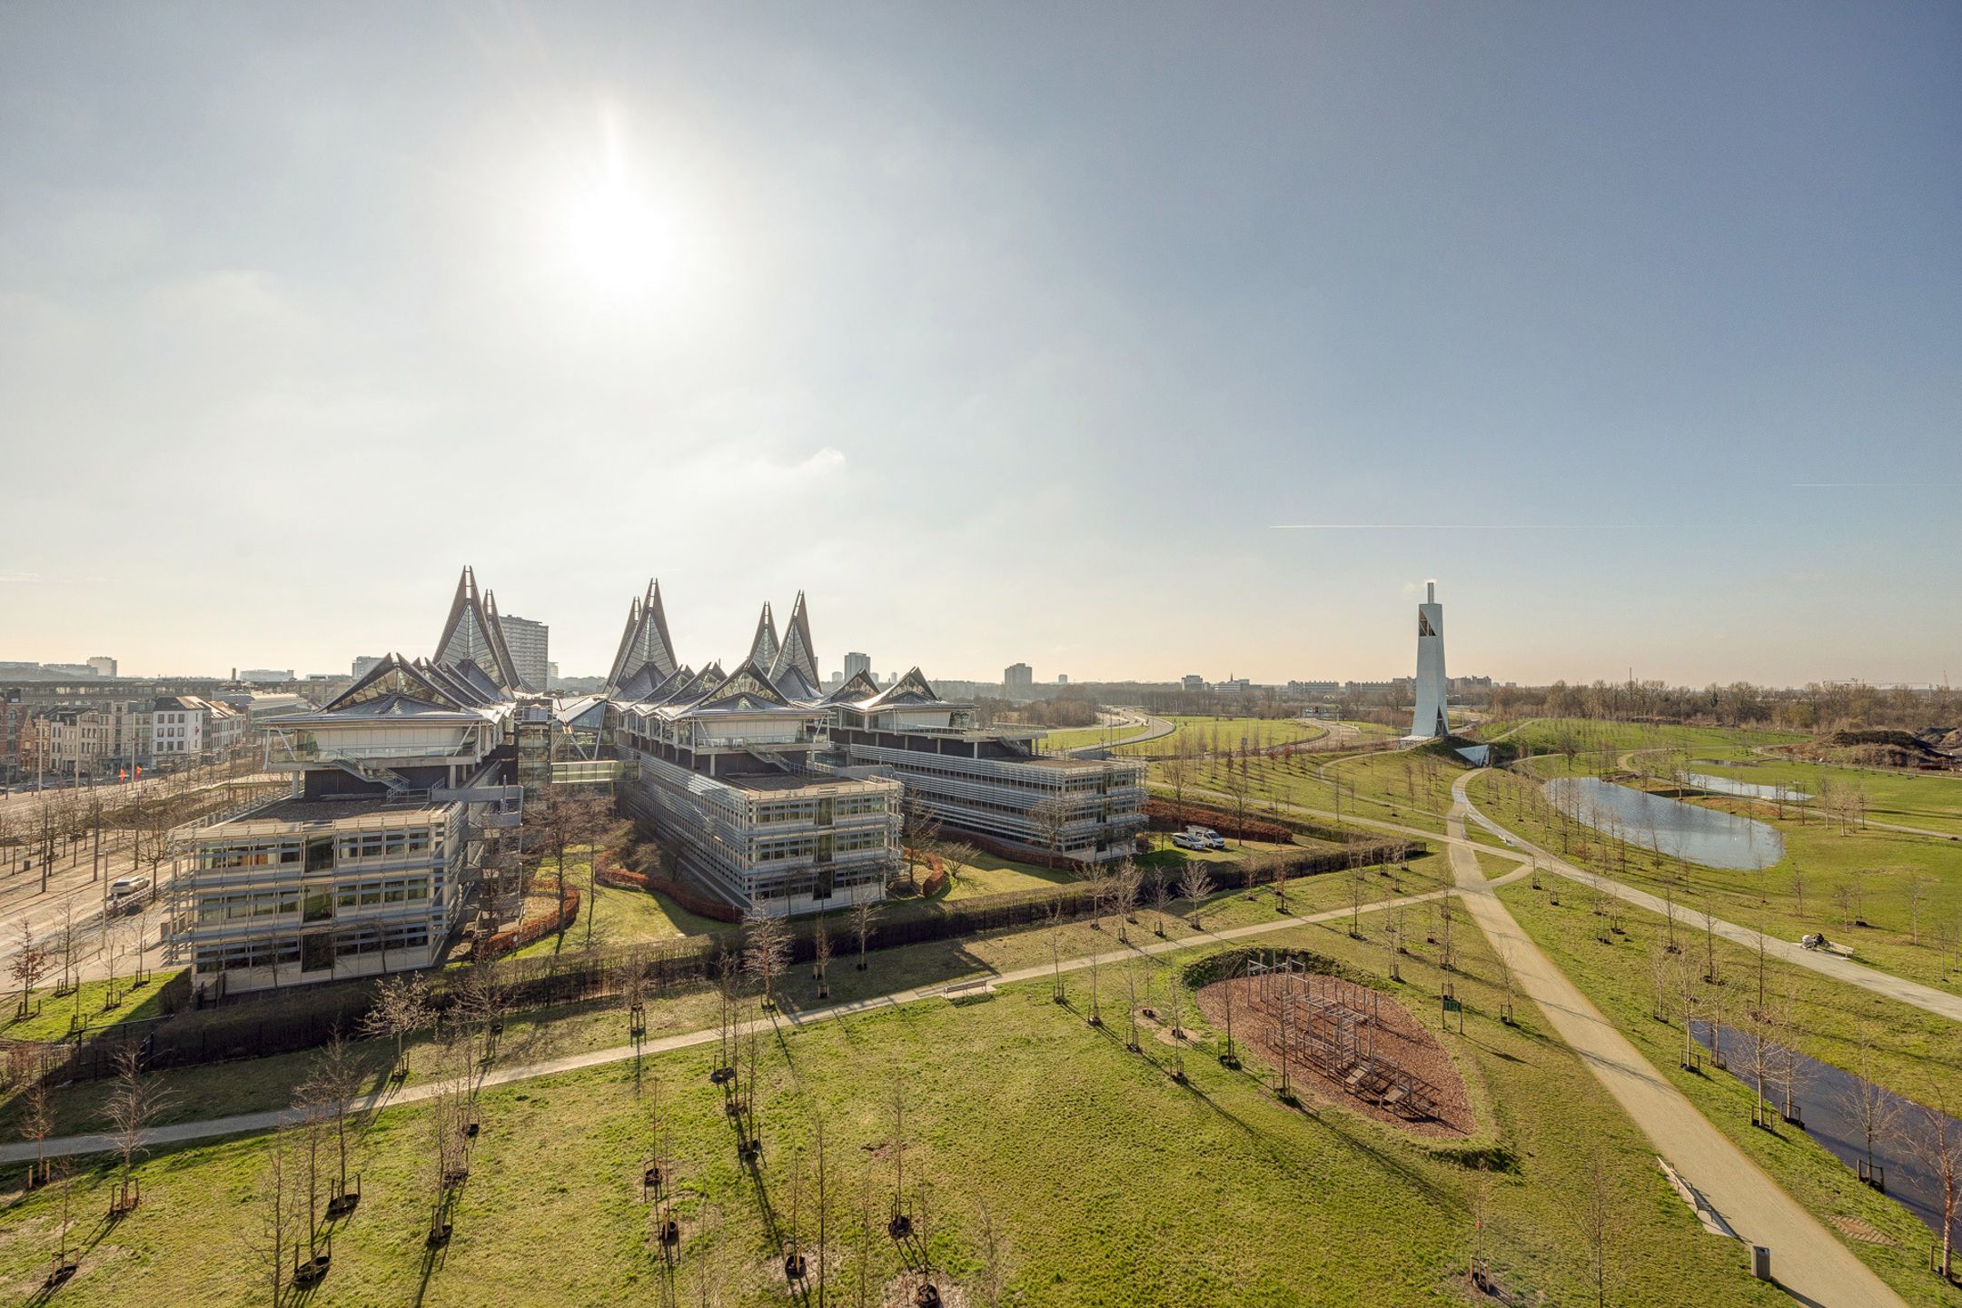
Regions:
[[[1305, 1041], [1301, 1008], [1289, 1018], [1289, 1081], [1297, 1094], [1324, 1104], [1342, 1104], [1366, 1118], [1403, 1128], [1413, 1135], [1430, 1139], [1464, 1139], [1477, 1130], [1472, 1116], [1472, 1102], [1466, 1094], [1464, 1079], [1444, 1051], [1432, 1030], [1409, 1008], [1381, 990], [1360, 986], [1352, 981], [1315, 975], [1295, 979], [1320, 1000], [1330, 1000], [1352, 1014], [1364, 1014], [1356, 1028], [1356, 1043], [1366, 1055], [1366, 1073], [1358, 1073], [1358, 1063], [1344, 1057], [1330, 1067], [1318, 1065], [1311, 1057]], [[1234, 977], [1214, 981], [1197, 994], [1199, 1010], [1214, 1031], [1226, 1030], [1226, 1002], [1232, 1000], [1234, 1041], [1246, 1045], [1267, 1067], [1281, 1065], [1281, 1006], [1277, 977]], [[1379, 1071], [1395, 1071], [1409, 1077], [1419, 1086], [1426, 1104], [1424, 1112], [1411, 1110], [1411, 1096], [1387, 1094], [1387, 1081]]]

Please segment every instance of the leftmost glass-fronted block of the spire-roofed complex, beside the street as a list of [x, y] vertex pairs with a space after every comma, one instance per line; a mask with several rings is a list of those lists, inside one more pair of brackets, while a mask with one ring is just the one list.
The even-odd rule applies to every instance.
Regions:
[[[522, 818], [522, 702], [489, 596], [465, 569], [439, 651], [387, 655], [324, 708], [267, 720], [290, 792], [173, 831], [171, 959], [204, 992], [430, 967]], [[177, 712], [159, 704], [159, 718]], [[177, 737], [171, 737], [177, 739]], [[186, 737], [188, 739], [188, 737]]]

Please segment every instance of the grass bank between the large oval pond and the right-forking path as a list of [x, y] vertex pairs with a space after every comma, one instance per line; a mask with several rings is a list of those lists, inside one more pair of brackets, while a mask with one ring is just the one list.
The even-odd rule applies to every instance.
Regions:
[[[1470, 794], [1489, 818], [1562, 859], [1652, 894], [1672, 894], [1685, 916], [1709, 906], [1727, 922], [1762, 924], [1780, 939], [1821, 931], [1850, 945], [1868, 967], [1962, 992], [1962, 949], [1942, 943], [1962, 939], [1962, 843], [1876, 828], [1842, 830], [1821, 814], [1801, 820], [1801, 810], [1789, 804], [1778, 818], [1768, 802], [1691, 794], [1687, 802], [1776, 828], [1785, 845], [1783, 857], [1762, 871], [1701, 867], [1652, 853], [1640, 831], [1630, 831], [1623, 847], [1577, 822], [1562, 822], [1536, 779], [1568, 775], [1566, 759], [1534, 759], [1528, 767], [1532, 780], [1487, 773], [1472, 782]], [[1583, 767], [1577, 761], [1572, 773]], [[1917, 780], [1952, 784], [1940, 777]]]

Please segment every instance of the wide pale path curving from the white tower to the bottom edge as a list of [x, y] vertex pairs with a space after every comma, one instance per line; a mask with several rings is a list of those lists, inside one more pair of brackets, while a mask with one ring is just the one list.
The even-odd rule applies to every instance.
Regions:
[[[1466, 814], [1472, 812], [1466, 796], [1470, 779], [1472, 773], [1452, 786], [1454, 802], [1446, 816], [1446, 831], [1460, 839]], [[1554, 967], [1493, 894], [1493, 882], [1485, 880], [1470, 847], [1452, 843], [1450, 859], [1466, 910], [1513, 969], [1519, 988], [1540, 1006], [1560, 1039], [1607, 1086], [1656, 1151], [1703, 1192], [1738, 1239], [1772, 1251], [1772, 1275], [1793, 1298], [1823, 1308], [1901, 1306], [1901, 1298], [1852, 1249], [1711, 1126]]]

